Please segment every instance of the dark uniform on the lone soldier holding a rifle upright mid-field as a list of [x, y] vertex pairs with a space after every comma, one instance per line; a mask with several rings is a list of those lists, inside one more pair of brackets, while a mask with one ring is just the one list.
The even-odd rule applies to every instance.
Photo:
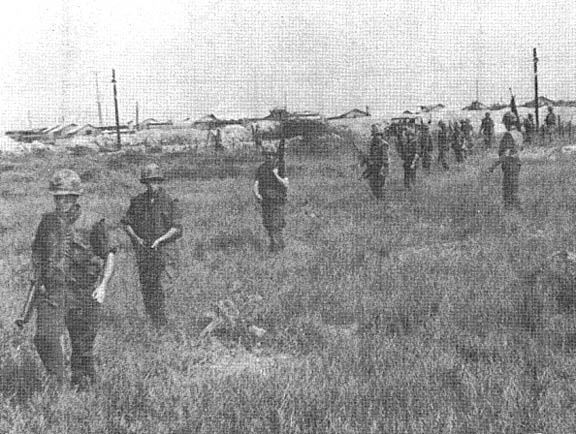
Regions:
[[282, 231], [286, 227], [284, 208], [287, 199], [287, 188], [276, 178], [274, 168], [274, 162], [264, 162], [258, 167], [255, 179], [262, 197], [262, 223], [268, 232], [272, 252], [285, 247]]

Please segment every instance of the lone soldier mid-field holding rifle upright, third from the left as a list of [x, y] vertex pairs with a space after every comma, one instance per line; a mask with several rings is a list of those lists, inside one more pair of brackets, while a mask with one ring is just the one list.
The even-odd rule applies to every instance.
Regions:
[[262, 147], [264, 163], [256, 171], [253, 193], [262, 206], [262, 223], [270, 238], [270, 251], [284, 249], [282, 230], [286, 226], [284, 207], [288, 193], [288, 178], [278, 173], [278, 154], [272, 144]]

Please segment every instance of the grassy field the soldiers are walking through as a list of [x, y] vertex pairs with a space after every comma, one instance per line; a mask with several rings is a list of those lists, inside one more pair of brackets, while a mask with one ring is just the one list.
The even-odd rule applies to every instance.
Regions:
[[[331, 152], [322, 152], [322, 150]], [[185, 212], [169, 327], [147, 322], [117, 222], [159, 161]], [[267, 253], [251, 195], [258, 155], [26, 156], [0, 161], [1, 433], [576, 432], [576, 325], [549, 309], [522, 327], [523, 276], [576, 245], [572, 159], [525, 161], [522, 213], [501, 207], [501, 174], [472, 156], [385, 203], [351, 152], [292, 152], [287, 248]], [[52, 207], [56, 168], [86, 182], [81, 203], [123, 247], [97, 339], [99, 383], [43, 390], [33, 325], [12, 327], [29, 246]], [[261, 342], [200, 339], [205, 312], [233, 300]], [[530, 302], [530, 299], [528, 299]]]

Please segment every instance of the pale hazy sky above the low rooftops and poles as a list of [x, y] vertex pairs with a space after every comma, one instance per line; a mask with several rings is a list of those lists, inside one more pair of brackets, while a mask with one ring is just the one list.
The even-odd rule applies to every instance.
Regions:
[[249, 116], [284, 104], [394, 114], [576, 99], [574, 0], [17, 0], [0, 14], [0, 130]]

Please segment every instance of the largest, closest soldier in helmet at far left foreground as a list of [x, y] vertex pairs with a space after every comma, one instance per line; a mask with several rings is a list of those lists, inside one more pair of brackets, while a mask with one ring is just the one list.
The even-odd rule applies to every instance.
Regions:
[[116, 247], [106, 222], [83, 213], [78, 174], [59, 170], [49, 184], [54, 211], [42, 215], [32, 243], [32, 264], [39, 285], [34, 344], [50, 376], [67, 383], [61, 336], [68, 331], [72, 346], [71, 382], [79, 389], [92, 384], [94, 340], [100, 304], [114, 270]]

